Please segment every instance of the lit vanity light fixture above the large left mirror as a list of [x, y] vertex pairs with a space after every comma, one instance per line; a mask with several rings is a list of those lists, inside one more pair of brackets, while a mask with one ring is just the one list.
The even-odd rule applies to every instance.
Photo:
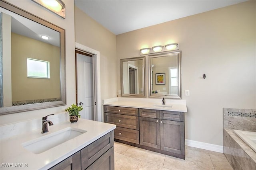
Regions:
[[55, 14], [61, 16], [62, 18], [65, 18], [66, 6], [64, 2], [62, 2], [62, 0], [32, 0], [32, 1], [36, 2], [40, 6], [46, 8], [47, 10], [54, 12]]

